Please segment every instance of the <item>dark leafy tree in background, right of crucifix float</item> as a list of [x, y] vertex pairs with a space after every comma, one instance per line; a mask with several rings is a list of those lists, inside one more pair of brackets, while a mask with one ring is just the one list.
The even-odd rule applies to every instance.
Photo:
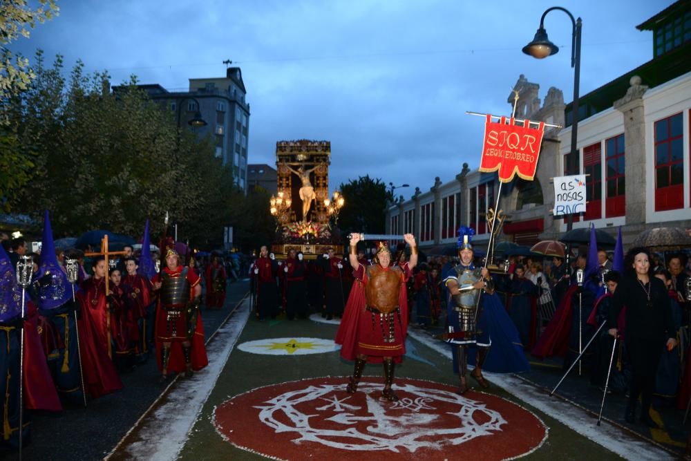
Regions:
[[345, 205], [339, 215], [339, 226], [342, 234], [367, 232], [384, 234], [386, 229], [386, 207], [390, 193], [381, 179], [372, 179], [369, 175], [341, 184], [341, 194]]

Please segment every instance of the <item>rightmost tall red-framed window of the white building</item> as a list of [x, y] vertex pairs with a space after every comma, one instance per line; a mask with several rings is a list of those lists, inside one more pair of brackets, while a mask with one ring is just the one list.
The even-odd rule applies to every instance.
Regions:
[[658, 120], [655, 129], [655, 211], [684, 205], [683, 117], [681, 113]]

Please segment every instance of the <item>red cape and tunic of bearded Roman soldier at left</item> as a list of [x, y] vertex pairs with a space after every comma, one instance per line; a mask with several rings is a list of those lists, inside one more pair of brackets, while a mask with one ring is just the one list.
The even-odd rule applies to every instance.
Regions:
[[[168, 267], [164, 267], [164, 271], [170, 276], [180, 276], [182, 275], [183, 267], [179, 265], [176, 270], [169, 270]], [[152, 283], [158, 283], [160, 281], [160, 274], [155, 274]], [[189, 301], [194, 298], [194, 288], [199, 284], [200, 278], [197, 273], [193, 270], [187, 270], [187, 281], [190, 284], [189, 291]], [[184, 353], [182, 352], [182, 343], [188, 341], [187, 338], [187, 328], [178, 331], [178, 337], [168, 337], [166, 332], [166, 320], [167, 314], [164, 310], [164, 306], [161, 305], [160, 298], [158, 300], [158, 306], [156, 308], [156, 357], [158, 361], [159, 370], [163, 370], [163, 362], [161, 357], [162, 343], [171, 343], [170, 359], [168, 361], [168, 373], [182, 373], [186, 370], [184, 364]], [[183, 316], [184, 317], [184, 316]], [[199, 310], [197, 310], [197, 321], [194, 330], [194, 334], [190, 340], [192, 345], [192, 357], [191, 365], [193, 370], [201, 370], [209, 364], [209, 359], [207, 358], [207, 348], [204, 344], [204, 326], [202, 325], [202, 315]]]

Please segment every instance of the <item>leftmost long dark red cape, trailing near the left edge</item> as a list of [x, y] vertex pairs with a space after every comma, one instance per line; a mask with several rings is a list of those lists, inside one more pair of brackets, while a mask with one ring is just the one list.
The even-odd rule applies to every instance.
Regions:
[[62, 411], [57, 390], [50, 377], [46, 354], [41, 347], [37, 329], [38, 314], [28, 303], [28, 319], [24, 321], [24, 405], [31, 410]]

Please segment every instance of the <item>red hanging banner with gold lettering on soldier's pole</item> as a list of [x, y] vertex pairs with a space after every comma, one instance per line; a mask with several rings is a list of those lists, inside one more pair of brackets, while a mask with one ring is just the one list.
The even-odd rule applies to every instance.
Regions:
[[499, 170], [501, 182], [511, 182], [516, 174], [532, 181], [538, 168], [545, 122], [540, 122], [538, 128], [531, 128], [530, 123], [524, 120], [523, 124], [517, 125], [514, 118], [507, 123], [507, 117], [492, 122], [492, 116], [487, 114], [480, 171]]

